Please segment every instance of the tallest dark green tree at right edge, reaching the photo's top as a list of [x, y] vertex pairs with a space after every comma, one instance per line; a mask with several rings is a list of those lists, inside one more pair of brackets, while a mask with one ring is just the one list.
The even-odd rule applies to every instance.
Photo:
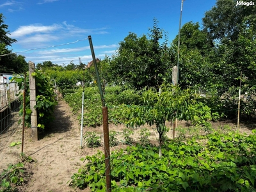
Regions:
[[[216, 93], [227, 102], [223, 106], [229, 110], [234, 104], [237, 105], [240, 80], [242, 94], [256, 93], [256, 6], [237, 3], [239, 2], [234, 0], [218, 0], [203, 18], [204, 31], [209, 33], [214, 43], [213, 51], [209, 54], [209, 63], [212, 65], [212, 74], [216, 76]], [[223, 93], [226, 97], [223, 97]], [[252, 97], [247, 103], [241, 104], [242, 113], [251, 114], [255, 108], [256, 103]]]

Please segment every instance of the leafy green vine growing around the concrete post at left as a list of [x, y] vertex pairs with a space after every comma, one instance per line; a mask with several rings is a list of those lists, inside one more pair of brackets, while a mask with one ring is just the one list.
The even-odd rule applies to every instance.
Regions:
[[[44, 130], [45, 125], [49, 124], [53, 120], [53, 110], [54, 106], [57, 105], [55, 100], [55, 93], [52, 88], [51, 81], [49, 77], [45, 76], [39, 70], [33, 72], [32, 76], [36, 80], [36, 115], [38, 127]], [[26, 76], [26, 115], [25, 123], [27, 127], [31, 127], [31, 109], [30, 109], [30, 96], [29, 96], [29, 74], [27, 72]], [[19, 85], [20, 90], [24, 88], [24, 77], [14, 77], [13, 81], [16, 81]], [[23, 101], [23, 95], [20, 96], [20, 100]], [[19, 111], [20, 116], [23, 115], [23, 105], [20, 106]]]

